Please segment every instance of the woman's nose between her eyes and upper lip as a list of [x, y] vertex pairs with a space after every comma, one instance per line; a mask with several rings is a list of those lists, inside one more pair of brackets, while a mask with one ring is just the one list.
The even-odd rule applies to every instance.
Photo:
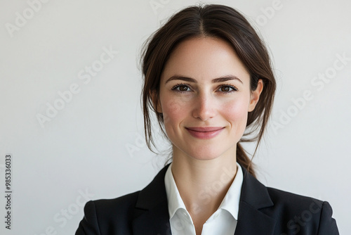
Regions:
[[216, 115], [216, 102], [211, 94], [199, 94], [194, 101], [192, 115], [194, 118], [206, 121]]

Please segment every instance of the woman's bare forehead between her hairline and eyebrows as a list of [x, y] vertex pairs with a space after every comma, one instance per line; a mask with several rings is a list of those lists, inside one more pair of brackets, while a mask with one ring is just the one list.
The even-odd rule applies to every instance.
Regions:
[[161, 82], [173, 75], [192, 77], [201, 82], [224, 75], [235, 75], [245, 80], [249, 72], [228, 42], [214, 37], [199, 37], [181, 42], [172, 51]]

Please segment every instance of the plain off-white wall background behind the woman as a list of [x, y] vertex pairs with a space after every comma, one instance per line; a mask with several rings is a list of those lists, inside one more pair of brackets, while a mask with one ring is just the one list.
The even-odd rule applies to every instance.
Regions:
[[[198, 1], [39, 3], [0, 2], [1, 234], [74, 234], [86, 200], [121, 196], [152, 180], [165, 158], [142, 137], [140, 48], [165, 18]], [[329, 201], [340, 234], [351, 234], [351, 2], [211, 3], [244, 13], [272, 53], [277, 98], [254, 158], [260, 181]], [[26, 22], [18, 19], [24, 16]], [[79, 79], [86, 66], [99, 65], [104, 48], [118, 53], [89, 82]], [[62, 106], [58, 92], [72, 84], [79, 92], [41, 125], [38, 116], [55, 102]], [[301, 101], [306, 90], [310, 99]], [[11, 231], [3, 221], [6, 153], [13, 155]]]

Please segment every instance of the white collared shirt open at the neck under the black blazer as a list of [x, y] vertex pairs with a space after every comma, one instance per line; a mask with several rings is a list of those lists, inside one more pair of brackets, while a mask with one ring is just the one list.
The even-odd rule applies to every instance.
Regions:
[[[173, 235], [195, 235], [195, 227], [189, 212], [185, 208], [182, 198], [180, 197], [176, 182], [174, 181], [171, 171], [172, 165], [167, 169], [164, 177], [166, 185], [169, 222]], [[223, 177], [229, 170], [223, 171]], [[228, 174], [227, 174], [228, 175]], [[241, 166], [237, 163], [237, 174], [235, 175], [232, 185], [228, 189], [222, 203], [216, 212], [208, 218], [202, 227], [201, 235], [232, 235], [237, 227], [237, 218], [239, 213], [239, 200], [241, 186], [243, 182], [243, 173]], [[218, 182], [220, 184], [220, 182]], [[214, 190], [216, 185], [213, 184]], [[206, 193], [199, 192], [199, 198], [204, 199]], [[196, 205], [195, 205], [196, 206]], [[196, 208], [194, 209], [196, 210]]]

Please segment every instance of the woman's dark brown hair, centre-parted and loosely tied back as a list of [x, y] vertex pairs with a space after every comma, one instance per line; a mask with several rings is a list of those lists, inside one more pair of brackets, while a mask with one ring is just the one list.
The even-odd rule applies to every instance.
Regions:
[[258, 80], [263, 80], [260, 99], [256, 108], [248, 114], [245, 133], [237, 143], [237, 162], [255, 176], [251, 158], [240, 142], [257, 141], [255, 155], [270, 116], [276, 83], [265, 44], [246, 18], [229, 6], [211, 4], [185, 8], [173, 15], [145, 42], [141, 66], [145, 79], [142, 103], [147, 146], [151, 151], [152, 146], [157, 148], [152, 138], [150, 110], [156, 114], [161, 131], [166, 136], [163, 116], [157, 113], [152, 102], [153, 94], [156, 103], [159, 101], [159, 84], [166, 61], [180, 42], [194, 37], [215, 37], [229, 42], [250, 74], [252, 91], [256, 89]]

